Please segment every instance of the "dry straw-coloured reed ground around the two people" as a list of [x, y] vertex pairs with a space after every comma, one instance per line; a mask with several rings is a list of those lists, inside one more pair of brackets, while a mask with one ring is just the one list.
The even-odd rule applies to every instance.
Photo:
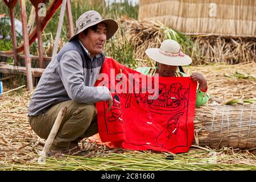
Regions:
[[[185, 72], [201, 72], [208, 80], [210, 102], [224, 103], [232, 98], [249, 99], [256, 96], [255, 63], [237, 65], [206, 65], [185, 67]], [[250, 74], [237, 78], [236, 71]], [[229, 77], [224, 76], [224, 74]], [[7, 90], [4, 90], [7, 91]], [[80, 143], [89, 153], [48, 158], [38, 164], [38, 153], [44, 140], [39, 139], [27, 122], [27, 106], [32, 92], [11, 92], [0, 97], [0, 170], [256, 170], [256, 151], [232, 147], [212, 149], [192, 146], [187, 154], [130, 151], [106, 148], [86, 139]]]

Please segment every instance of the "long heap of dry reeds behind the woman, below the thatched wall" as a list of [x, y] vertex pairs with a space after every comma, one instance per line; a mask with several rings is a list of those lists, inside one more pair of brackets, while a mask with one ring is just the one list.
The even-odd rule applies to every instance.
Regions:
[[183, 52], [191, 56], [192, 65], [209, 63], [256, 63], [256, 38], [234, 38], [216, 35], [183, 35], [160, 22], [123, 16], [127, 39], [135, 50], [138, 66], [152, 66], [155, 63], [144, 53], [147, 48], [159, 48], [164, 39], [174, 39]]

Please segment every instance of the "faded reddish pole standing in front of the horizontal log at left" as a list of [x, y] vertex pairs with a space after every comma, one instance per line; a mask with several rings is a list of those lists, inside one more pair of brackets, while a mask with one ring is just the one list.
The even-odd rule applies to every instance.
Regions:
[[31, 73], [31, 59], [30, 59], [30, 45], [28, 43], [28, 31], [27, 31], [27, 14], [26, 14], [26, 0], [19, 0], [20, 16], [22, 20], [22, 32], [24, 42], [24, 55], [26, 62], [26, 75], [27, 75], [27, 89], [28, 91], [33, 89], [32, 85], [32, 73]]

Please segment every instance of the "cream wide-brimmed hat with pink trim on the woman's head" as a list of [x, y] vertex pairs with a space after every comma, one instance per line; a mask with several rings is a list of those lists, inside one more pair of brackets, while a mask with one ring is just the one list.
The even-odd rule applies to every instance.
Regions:
[[175, 40], [164, 40], [160, 48], [146, 49], [146, 55], [152, 60], [173, 66], [191, 64], [192, 60], [180, 50], [180, 45]]

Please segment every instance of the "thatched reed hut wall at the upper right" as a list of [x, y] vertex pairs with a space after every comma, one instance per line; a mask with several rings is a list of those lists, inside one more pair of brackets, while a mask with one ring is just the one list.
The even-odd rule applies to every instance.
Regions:
[[255, 0], [139, 0], [139, 20], [185, 34], [256, 36]]

